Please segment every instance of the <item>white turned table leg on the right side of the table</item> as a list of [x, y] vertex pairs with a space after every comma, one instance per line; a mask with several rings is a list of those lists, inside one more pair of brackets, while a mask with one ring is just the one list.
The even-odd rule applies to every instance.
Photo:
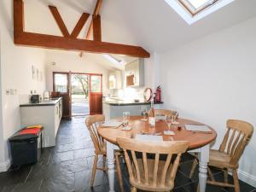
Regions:
[[209, 152], [210, 146], [201, 148], [201, 153], [199, 154], [199, 191], [205, 192], [207, 188], [207, 166], [209, 162]]

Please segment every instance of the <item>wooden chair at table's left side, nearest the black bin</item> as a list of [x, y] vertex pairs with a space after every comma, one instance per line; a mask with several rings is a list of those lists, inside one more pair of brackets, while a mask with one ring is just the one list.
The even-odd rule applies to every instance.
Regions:
[[[96, 170], [102, 170], [103, 172], [106, 172], [108, 170], [108, 167], [106, 166], [106, 156], [107, 156], [106, 142], [98, 134], [98, 131], [97, 131], [98, 126], [101, 125], [104, 121], [105, 121], [105, 116], [102, 114], [90, 115], [85, 119], [85, 124], [88, 130], [90, 131], [90, 137], [94, 144], [95, 154], [96, 154], [94, 158], [93, 167], [92, 167], [90, 187], [93, 187], [94, 179], [96, 176]], [[97, 166], [99, 155], [102, 155], [103, 157], [103, 167]], [[120, 163], [119, 163], [120, 156], [121, 156], [121, 150], [115, 150], [115, 160], [116, 160], [117, 174], [119, 177], [119, 186], [121, 191], [124, 192], [123, 178], [122, 178]]]

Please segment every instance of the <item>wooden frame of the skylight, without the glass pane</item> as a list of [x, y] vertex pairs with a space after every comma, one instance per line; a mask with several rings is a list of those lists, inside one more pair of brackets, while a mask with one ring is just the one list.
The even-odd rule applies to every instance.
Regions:
[[[195, 16], [199, 13], [201, 13], [203, 10], [212, 7], [215, 3], [218, 3], [219, 0], [213, 0], [211, 2], [205, 3], [203, 4], [201, 7], [199, 7], [198, 9], [195, 9], [194, 5], [192, 3], [189, 2], [189, 0], [177, 0], [178, 3], [181, 3], [183, 5], [183, 7], [189, 11], [189, 14], [191, 14], [192, 16]], [[195, 10], [193, 10], [193, 8]]]

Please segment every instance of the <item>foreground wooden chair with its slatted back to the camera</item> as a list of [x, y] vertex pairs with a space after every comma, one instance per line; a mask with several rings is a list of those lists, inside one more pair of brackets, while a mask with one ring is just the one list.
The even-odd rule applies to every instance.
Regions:
[[[186, 152], [189, 142], [142, 142], [129, 138], [118, 138], [117, 141], [125, 152], [131, 192], [136, 192], [137, 189], [145, 191], [173, 189], [181, 154]], [[154, 159], [148, 158], [148, 154], [153, 154]], [[160, 155], [167, 155], [166, 160], [160, 160]], [[172, 158], [175, 159], [173, 165]]]

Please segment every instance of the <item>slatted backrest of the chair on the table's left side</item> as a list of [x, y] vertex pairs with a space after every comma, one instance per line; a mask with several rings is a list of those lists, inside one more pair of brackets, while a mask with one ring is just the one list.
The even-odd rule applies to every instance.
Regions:
[[90, 115], [85, 119], [85, 125], [90, 131], [90, 137], [96, 148], [96, 152], [102, 151], [104, 146], [103, 138], [98, 134], [98, 126], [105, 121], [105, 116], [102, 114]]

